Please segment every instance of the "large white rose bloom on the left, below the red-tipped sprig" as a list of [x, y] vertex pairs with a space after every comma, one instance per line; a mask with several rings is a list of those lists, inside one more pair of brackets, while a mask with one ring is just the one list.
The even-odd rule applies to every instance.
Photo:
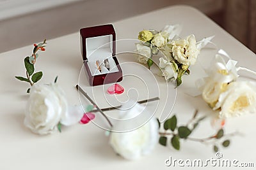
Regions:
[[56, 83], [31, 87], [24, 119], [24, 125], [31, 131], [50, 134], [56, 131], [59, 122], [72, 125], [81, 117], [81, 107], [68, 108], [64, 92]]

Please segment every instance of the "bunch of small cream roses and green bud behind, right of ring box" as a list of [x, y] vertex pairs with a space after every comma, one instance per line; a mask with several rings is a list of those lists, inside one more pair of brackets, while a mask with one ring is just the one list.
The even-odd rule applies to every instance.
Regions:
[[195, 64], [200, 50], [214, 37], [196, 42], [193, 34], [179, 38], [179, 31], [179, 25], [166, 25], [162, 31], [143, 30], [138, 36], [141, 42], [136, 44], [138, 61], [147, 64], [148, 69], [154, 64], [153, 55], [163, 53], [157, 64], [161, 70], [159, 75], [175, 80], [177, 86], [182, 83], [182, 76], [190, 73], [189, 66]]

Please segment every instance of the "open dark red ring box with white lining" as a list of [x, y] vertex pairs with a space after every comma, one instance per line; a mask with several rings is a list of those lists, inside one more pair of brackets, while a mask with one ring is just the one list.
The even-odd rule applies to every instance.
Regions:
[[[84, 69], [90, 85], [116, 83], [122, 80], [122, 69], [116, 59], [116, 33], [112, 24], [86, 27], [80, 29], [81, 53]], [[109, 60], [109, 70], [104, 65], [104, 59]], [[97, 69], [99, 60], [101, 73]]]

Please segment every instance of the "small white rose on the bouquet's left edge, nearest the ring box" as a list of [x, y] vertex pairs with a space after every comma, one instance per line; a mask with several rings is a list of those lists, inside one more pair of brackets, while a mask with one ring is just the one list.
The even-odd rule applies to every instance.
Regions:
[[150, 47], [138, 43], [136, 44], [136, 48], [136, 52], [140, 54], [138, 55], [138, 61], [140, 63], [147, 64], [147, 60], [152, 56]]

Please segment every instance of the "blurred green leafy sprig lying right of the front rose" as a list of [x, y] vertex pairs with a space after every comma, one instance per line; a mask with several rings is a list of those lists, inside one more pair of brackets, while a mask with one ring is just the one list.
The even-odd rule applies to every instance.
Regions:
[[225, 135], [233, 136], [234, 134], [225, 134], [223, 127], [221, 127], [215, 134], [207, 138], [191, 138], [190, 135], [195, 131], [198, 124], [204, 120], [205, 117], [197, 118], [198, 111], [195, 111], [193, 118], [186, 125], [177, 125], [177, 117], [167, 119], [163, 124], [159, 124], [159, 128], [163, 125], [164, 131], [159, 131], [159, 143], [163, 146], [167, 146], [168, 139], [170, 139], [170, 144], [176, 150], [180, 150], [180, 139], [197, 141], [200, 143], [211, 142], [214, 152], [218, 152], [218, 144], [221, 143], [223, 147], [228, 147], [230, 145], [229, 139], [224, 139]]

